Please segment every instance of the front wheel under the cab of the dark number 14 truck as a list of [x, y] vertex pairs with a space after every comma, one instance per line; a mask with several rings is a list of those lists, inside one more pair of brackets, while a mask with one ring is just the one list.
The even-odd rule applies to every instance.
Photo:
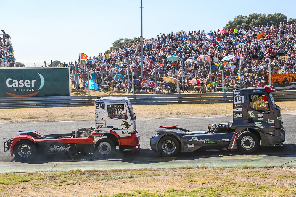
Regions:
[[258, 137], [251, 132], [244, 132], [237, 138], [237, 146], [244, 153], [253, 153], [259, 148]]

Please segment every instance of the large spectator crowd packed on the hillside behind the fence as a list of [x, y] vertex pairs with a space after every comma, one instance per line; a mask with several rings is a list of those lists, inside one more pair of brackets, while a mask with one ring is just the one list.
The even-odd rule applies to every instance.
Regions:
[[[99, 86], [104, 80], [105, 87], [126, 91], [131, 87], [131, 82], [128, 81], [129, 73], [129, 79], [131, 80], [133, 75], [134, 86], [141, 92], [153, 92], [155, 86], [157, 92], [176, 92], [175, 83], [164, 81], [163, 78], [167, 76], [178, 76], [181, 90], [187, 92], [209, 92], [210, 89], [216, 92], [222, 90], [222, 84], [229, 89], [268, 84], [269, 65], [271, 74], [296, 73], [295, 39], [295, 22], [247, 26], [245, 29], [234, 27], [224, 33], [219, 29], [213, 32], [198, 30], [160, 33], [156, 38], [143, 42], [143, 77], [140, 42], [110, 53], [101, 53], [77, 64], [64, 62], [58, 66], [70, 66], [72, 87], [75, 87], [76, 76], [80, 78], [80, 84], [85, 84], [89, 73], [90, 79]], [[171, 55], [180, 57], [181, 61], [168, 61], [167, 57]], [[212, 59], [212, 74], [210, 63], [199, 59], [200, 55], [208, 55]], [[221, 61], [227, 55], [234, 55], [234, 58]], [[75, 74], [76, 71], [78, 74]], [[201, 83], [189, 84], [191, 79], [199, 79]], [[286, 82], [296, 81], [293, 78], [278, 84]]]

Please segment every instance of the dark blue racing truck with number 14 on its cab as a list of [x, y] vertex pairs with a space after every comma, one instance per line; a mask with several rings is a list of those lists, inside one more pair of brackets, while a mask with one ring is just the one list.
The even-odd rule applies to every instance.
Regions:
[[233, 92], [233, 121], [208, 125], [208, 131], [189, 131], [177, 125], [160, 126], [150, 138], [151, 149], [164, 156], [179, 152], [235, 150], [253, 153], [259, 146], [283, 146], [285, 129], [273, 86]]

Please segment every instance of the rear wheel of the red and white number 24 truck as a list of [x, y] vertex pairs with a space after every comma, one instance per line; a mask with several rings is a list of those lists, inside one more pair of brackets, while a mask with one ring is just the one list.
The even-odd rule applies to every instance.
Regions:
[[13, 147], [13, 154], [16, 161], [33, 160], [36, 154], [36, 145], [29, 140], [20, 140]]

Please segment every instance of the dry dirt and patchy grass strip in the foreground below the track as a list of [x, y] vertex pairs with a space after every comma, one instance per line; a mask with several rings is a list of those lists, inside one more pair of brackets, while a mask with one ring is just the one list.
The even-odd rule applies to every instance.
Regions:
[[295, 168], [89, 170], [0, 174], [0, 196], [295, 196]]

